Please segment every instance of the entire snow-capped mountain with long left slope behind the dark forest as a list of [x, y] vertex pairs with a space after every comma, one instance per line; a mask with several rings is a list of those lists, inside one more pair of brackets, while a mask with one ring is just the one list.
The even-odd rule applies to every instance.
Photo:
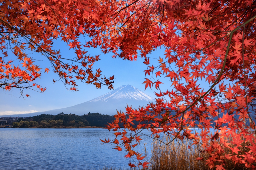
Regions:
[[108, 115], [116, 114], [116, 110], [124, 111], [125, 106], [131, 106], [133, 108], [138, 108], [139, 106], [146, 106], [150, 102], [153, 102], [154, 98], [146, 95], [141, 90], [131, 86], [131, 85], [123, 85], [106, 93], [102, 96], [89, 100], [87, 102], [77, 104], [75, 106], [49, 110], [45, 112], [35, 112], [35, 113], [27, 113], [27, 114], [19, 114], [19, 115], [8, 115], [8, 116], [19, 116], [19, 117], [27, 117], [27, 116], [35, 116], [40, 114], [58, 114], [60, 112], [63, 113], [74, 113], [77, 115], [91, 113], [102, 113]]

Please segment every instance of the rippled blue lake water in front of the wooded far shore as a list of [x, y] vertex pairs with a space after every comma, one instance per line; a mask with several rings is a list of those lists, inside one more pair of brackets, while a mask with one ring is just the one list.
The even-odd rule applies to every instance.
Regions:
[[[147, 130], [144, 134], [150, 135]], [[0, 169], [99, 169], [103, 166], [124, 167], [130, 159], [126, 152], [100, 139], [114, 139], [113, 131], [101, 128], [1, 128]], [[136, 151], [143, 152], [144, 144], [151, 150], [152, 138], [142, 135]]]

